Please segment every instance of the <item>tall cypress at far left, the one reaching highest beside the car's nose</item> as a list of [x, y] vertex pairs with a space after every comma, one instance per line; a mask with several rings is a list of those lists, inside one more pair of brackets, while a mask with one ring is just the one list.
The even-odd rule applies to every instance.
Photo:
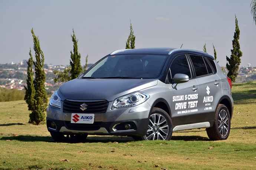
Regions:
[[33, 62], [35, 65], [35, 79], [33, 81], [35, 85], [35, 97], [34, 97], [34, 107], [32, 113], [29, 115], [29, 123], [35, 123], [39, 125], [40, 122], [45, 120], [45, 111], [47, 108], [47, 95], [45, 91], [45, 71], [43, 69], [45, 57], [43, 51], [40, 48], [39, 39], [34, 34], [33, 28], [31, 30], [34, 40], [34, 51], [36, 62]]

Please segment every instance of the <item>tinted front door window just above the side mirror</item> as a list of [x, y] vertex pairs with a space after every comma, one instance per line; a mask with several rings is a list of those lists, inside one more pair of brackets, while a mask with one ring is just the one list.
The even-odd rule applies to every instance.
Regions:
[[180, 55], [176, 57], [171, 63], [170, 70], [172, 78], [177, 73], [186, 74], [189, 78], [191, 78], [191, 72], [185, 55]]

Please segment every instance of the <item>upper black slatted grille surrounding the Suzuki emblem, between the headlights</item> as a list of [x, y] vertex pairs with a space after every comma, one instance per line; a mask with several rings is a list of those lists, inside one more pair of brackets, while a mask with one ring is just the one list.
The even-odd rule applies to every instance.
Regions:
[[[86, 103], [86, 109], [80, 109], [83, 103]], [[63, 102], [63, 112], [65, 113], [105, 113], [108, 107], [106, 100], [65, 100]]]

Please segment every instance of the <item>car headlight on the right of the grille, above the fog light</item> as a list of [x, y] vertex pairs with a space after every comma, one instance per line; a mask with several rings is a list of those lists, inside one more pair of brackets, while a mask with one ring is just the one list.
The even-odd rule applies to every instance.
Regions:
[[111, 109], [128, 108], [132, 106], [137, 106], [147, 101], [149, 97], [150, 96], [148, 94], [143, 92], [130, 93], [128, 95], [115, 99], [115, 101], [111, 106]]

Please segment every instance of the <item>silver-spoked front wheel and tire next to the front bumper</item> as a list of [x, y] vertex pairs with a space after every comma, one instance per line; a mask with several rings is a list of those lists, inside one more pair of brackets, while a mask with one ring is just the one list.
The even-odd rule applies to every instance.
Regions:
[[[152, 109], [147, 126], [147, 134], [141, 136], [141, 140], [170, 140], [173, 135], [173, 123], [163, 109]], [[137, 136], [136, 139], [138, 140]]]

